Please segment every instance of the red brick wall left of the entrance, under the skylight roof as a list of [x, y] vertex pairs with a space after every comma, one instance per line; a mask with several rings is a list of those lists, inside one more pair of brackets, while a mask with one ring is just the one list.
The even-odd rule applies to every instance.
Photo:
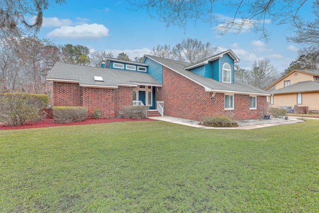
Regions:
[[85, 106], [88, 117], [99, 108], [102, 118], [112, 118], [119, 115], [122, 106], [132, 105], [132, 87], [116, 89], [80, 87], [78, 83], [54, 82], [54, 106]]

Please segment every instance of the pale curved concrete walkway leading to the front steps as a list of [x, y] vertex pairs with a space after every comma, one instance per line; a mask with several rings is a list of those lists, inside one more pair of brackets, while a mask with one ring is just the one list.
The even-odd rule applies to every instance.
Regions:
[[[292, 116], [290, 116], [292, 117]], [[278, 126], [278, 125], [285, 125], [285, 124], [295, 124], [299, 122], [304, 122], [303, 120], [299, 120], [298, 118], [301, 117], [294, 117], [290, 118], [287, 121], [278, 122], [278, 123], [269, 123], [269, 124], [258, 124], [258, 125], [248, 125], [248, 126], [242, 126], [242, 127], [206, 127], [203, 125], [197, 125], [197, 124], [190, 124], [182, 121], [174, 120], [171, 117], [149, 117], [150, 119], [159, 120], [159, 121], [166, 121], [174, 124], [181, 124], [185, 126], [195, 127], [195, 128], [201, 128], [201, 129], [257, 129], [257, 128], [263, 128], [263, 127], [271, 127], [271, 126]], [[318, 118], [316, 118], [318, 119]]]

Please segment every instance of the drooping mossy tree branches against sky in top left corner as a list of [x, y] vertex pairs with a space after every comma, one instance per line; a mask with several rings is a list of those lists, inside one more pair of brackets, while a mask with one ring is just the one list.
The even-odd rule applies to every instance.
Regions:
[[[0, 38], [37, 33], [42, 25], [43, 10], [52, 2], [61, 4], [64, 0], [1, 0]], [[27, 23], [26, 14], [35, 16], [35, 23]]]

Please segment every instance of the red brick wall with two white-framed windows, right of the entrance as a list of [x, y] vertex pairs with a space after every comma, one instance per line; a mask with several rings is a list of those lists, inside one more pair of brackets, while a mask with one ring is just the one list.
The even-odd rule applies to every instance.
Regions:
[[266, 96], [257, 96], [257, 109], [249, 109], [249, 95], [235, 94], [234, 110], [224, 109], [224, 93], [206, 92], [204, 87], [163, 66], [163, 84], [156, 93], [164, 101], [164, 115], [200, 120], [209, 115], [225, 115], [235, 120], [255, 119], [266, 115]]

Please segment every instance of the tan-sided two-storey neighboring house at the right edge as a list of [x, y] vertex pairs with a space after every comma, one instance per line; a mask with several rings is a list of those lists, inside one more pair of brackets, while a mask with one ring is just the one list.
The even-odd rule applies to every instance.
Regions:
[[[271, 107], [306, 107], [319, 111], [319, 70], [294, 70], [268, 88]], [[297, 106], [296, 106], [297, 107]]]

